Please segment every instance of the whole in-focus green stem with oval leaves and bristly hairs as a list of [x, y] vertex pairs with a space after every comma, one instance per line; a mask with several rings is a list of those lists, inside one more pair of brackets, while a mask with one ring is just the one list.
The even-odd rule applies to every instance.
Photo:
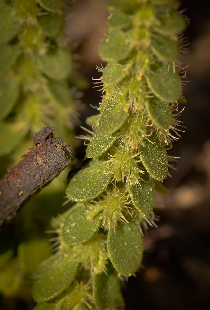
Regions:
[[[188, 19], [177, 11], [176, 0], [108, 0], [106, 5], [109, 32], [99, 54], [108, 64], [98, 68], [103, 75], [96, 81], [103, 99], [100, 114], [86, 121], [92, 131], [80, 136], [89, 142], [92, 160], [68, 184], [67, 196], [76, 204], [52, 220], [56, 254], [37, 270], [34, 310], [125, 307], [119, 280], [139, 268], [143, 230], [147, 224], [156, 227], [154, 191], [164, 189], [168, 160], [177, 159], [166, 149], [182, 131], [177, 117], [178, 104], [185, 102], [187, 51], [180, 34]], [[72, 266], [77, 262], [75, 278], [61, 281], [58, 255], [71, 258]], [[61, 285], [52, 295], [49, 287], [58, 279]], [[112, 281], [116, 289], [109, 290]]]

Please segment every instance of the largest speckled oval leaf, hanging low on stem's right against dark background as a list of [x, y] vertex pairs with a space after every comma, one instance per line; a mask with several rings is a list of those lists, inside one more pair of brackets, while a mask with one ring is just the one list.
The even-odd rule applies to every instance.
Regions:
[[136, 224], [117, 223], [107, 235], [107, 251], [112, 265], [125, 277], [137, 271], [142, 261], [143, 238]]

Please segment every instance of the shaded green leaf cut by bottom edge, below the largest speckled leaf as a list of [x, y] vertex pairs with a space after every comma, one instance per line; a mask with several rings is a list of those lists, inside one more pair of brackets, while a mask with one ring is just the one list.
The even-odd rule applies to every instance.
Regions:
[[113, 267], [107, 270], [107, 274], [102, 272], [93, 275], [93, 299], [99, 309], [107, 309], [115, 300], [119, 290], [119, 279]]

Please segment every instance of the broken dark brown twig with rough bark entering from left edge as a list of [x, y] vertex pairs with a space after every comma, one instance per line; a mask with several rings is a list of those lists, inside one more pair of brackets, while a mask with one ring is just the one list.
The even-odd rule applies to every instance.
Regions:
[[74, 160], [68, 143], [53, 138], [53, 127], [44, 127], [33, 136], [34, 146], [0, 181], [0, 226], [17, 210], [48, 185]]

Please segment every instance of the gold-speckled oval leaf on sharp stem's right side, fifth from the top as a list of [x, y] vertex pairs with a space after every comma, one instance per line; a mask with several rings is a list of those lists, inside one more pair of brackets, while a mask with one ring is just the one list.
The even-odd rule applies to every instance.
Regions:
[[168, 174], [168, 158], [166, 150], [160, 143], [157, 135], [153, 133], [150, 141], [145, 140], [145, 147], [140, 147], [140, 157], [147, 172], [155, 180], [162, 181]]

